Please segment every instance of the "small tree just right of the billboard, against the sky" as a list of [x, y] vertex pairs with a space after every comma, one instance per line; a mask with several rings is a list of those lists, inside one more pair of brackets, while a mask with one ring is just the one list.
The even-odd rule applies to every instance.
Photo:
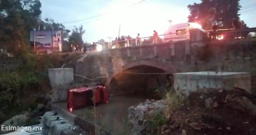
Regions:
[[83, 30], [83, 28], [84, 27], [81, 25], [79, 28], [75, 27], [73, 29], [72, 34], [68, 38], [69, 45], [78, 45], [78, 48], [82, 47], [82, 45], [84, 44], [82, 36], [85, 33], [85, 30]]

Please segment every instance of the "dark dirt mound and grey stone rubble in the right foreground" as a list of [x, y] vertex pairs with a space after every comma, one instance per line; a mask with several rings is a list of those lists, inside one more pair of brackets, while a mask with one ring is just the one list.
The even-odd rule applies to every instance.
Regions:
[[[147, 103], [146, 103], [147, 102]], [[147, 114], [161, 111], [164, 100], [129, 108], [133, 130], [147, 130]], [[137, 128], [137, 130], [136, 130]], [[139, 129], [139, 130], [138, 130]], [[242, 89], [204, 89], [191, 93], [158, 133], [163, 135], [256, 135], [256, 96]]]

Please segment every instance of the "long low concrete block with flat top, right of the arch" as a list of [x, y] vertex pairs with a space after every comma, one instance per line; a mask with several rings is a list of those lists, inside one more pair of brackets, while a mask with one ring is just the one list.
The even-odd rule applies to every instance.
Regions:
[[239, 72], [188, 72], [174, 74], [174, 88], [187, 96], [203, 88], [242, 88], [251, 93], [250, 73]]

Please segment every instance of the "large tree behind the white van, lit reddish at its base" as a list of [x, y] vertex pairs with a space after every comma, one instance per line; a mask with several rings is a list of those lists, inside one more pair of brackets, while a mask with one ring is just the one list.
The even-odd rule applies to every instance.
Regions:
[[190, 15], [189, 22], [197, 22], [204, 29], [210, 30], [210, 19], [218, 21], [222, 29], [232, 28], [232, 18], [239, 18], [238, 11], [241, 6], [240, 0], [201, 0], [201, 3], [188, 5]]

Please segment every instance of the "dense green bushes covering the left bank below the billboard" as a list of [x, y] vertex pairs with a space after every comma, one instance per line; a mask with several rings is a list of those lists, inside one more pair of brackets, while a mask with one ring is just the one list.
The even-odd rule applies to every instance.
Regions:
[[[1, 111], [12, 117], [23, 110], [36, 107], [37, 97], [51, 90], [48, 69], [60, 68], [64, 63], [72, 67], [78, 56], [36, 55], [26, 51], [14, 56], [11, 60], [15, 61], [15, 68], [0, 73]], [[5, 119], [0, 118], [0, 123]]]

